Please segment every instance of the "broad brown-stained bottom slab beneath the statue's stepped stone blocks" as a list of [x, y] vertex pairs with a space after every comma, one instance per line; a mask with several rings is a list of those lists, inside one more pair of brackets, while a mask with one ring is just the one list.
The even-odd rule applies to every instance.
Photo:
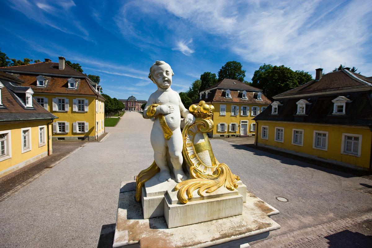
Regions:
[[[249, 191], [246, 192], [242, 214], [175, 228], [168, 228], [163, 216], [144, 219], [141, 203], [136, 202], [134, 196], [135, 182], [122, 182], [114, 248], [217, 248], [219, 244], [222, 244], [221, 247], [240, 247], [242, 244], [266, 238], [270, 231], [280, 228], [269, 217], [279, 211]], [[226, 242], [228, 244], [223, 244]]]

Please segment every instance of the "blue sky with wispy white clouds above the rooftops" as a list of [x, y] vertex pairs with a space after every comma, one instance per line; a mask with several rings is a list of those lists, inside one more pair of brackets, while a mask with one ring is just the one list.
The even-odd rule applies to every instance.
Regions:
[[231, 60], [247, 81], [263, 63], [372, 76], [371, 14], [371, 1], [10, 0], [0, 3], [0, 48], [17, 59], [62, 55], [111, 97], [147, 100], [155, 60], [171, 65], [179, 92]]

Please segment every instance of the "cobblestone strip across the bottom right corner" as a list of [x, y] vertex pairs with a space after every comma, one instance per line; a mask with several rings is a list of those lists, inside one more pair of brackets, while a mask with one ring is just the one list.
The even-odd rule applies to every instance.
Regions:
[[264, 241], [251, 243], [252, 248], [324, 248], [371, 247], [372, 210], [334, 220]]

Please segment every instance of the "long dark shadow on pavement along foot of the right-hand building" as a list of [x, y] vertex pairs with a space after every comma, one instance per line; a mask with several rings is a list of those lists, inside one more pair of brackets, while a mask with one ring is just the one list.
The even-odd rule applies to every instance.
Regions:
[[312, 168], [315, 170], [320, 170], [330, 174], [338, 175], [340, 177], [350, 178], [369, 174], [366, 171], [352, 170], [350, 168], [340, 167], [339, 165], [336, 164], [326, 163], [311, 158], [304, 158], [299, 155], [275, 151], [272, 149], [255, 146], [254, 144], [246, 145], [230, 144], [230, 145], [235, 149], [253, 152], [253, 154], [257, 156], [265, 156], [273, 158], [275, 160], [279, 160], [282, 164], [295, 165], [304, 168]]

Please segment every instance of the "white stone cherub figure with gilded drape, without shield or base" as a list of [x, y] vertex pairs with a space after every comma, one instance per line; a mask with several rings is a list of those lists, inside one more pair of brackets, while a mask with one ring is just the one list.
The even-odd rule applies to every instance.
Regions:
[[167, 164], [167, 156], [169, 156], [174, 177], [177, 183], [180, 183], [187, 179], [182, 170], [181, 116], [185, 118], [186, 125], [192, 125], [195, 117], [183, 106], [179, 94], [170, 88], [173, 75], [172, 68], [164, 61], [156, 61], [151, 66], [148, 78], [158, 89], [149, 97], [143, 117], [155, 117], [150, 140], [154, 149], [155, 163], [160, 168], [159, 181], [171, 180]]

